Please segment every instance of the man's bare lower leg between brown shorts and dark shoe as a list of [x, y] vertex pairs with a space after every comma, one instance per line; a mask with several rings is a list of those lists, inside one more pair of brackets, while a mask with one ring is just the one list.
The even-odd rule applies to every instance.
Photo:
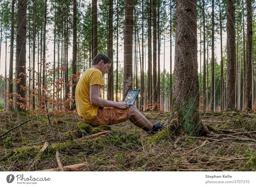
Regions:
[[146, 128], [148, 130], [151, 130], [153, 128], [153, 125], [148, 121], [148, 119], [140, 113], [140, 111], [135, 106], [130, 106], [130, 118], [129, 120], [136, 126], [140, 128]]

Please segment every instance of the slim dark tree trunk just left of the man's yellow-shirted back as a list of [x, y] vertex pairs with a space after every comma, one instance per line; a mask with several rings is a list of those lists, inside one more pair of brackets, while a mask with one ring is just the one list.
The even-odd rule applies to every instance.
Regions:
[[75, 90], [76, 90], [76, 51], [77, 51], [77, 28], [76, 28], [76, 0], [73, 0], [73, 54], [72, 54], [72, 110], [76, 109]]

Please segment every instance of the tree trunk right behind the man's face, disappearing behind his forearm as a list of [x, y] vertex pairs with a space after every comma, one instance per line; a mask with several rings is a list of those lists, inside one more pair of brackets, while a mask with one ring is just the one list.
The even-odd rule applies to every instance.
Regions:
[[[113, 63], [113, 0], [109, 0], [108, 9], [108, 57]], [[107, 99], [114, 101], [114, 68], [113, 64], [108, 69], [108, 94]]]

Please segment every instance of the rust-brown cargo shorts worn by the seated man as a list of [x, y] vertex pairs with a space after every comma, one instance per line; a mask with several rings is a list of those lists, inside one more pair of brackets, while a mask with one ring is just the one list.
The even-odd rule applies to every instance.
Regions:
[[91, 126], [100, 126], [103, 124], [114, 125], [121, 123], [130, 118], [129, 108], [120, 109], [115, 107], [104, 107], [99, 108], [97, 116], [93, 119], [84, 119], [83, 121], [87, 122]]

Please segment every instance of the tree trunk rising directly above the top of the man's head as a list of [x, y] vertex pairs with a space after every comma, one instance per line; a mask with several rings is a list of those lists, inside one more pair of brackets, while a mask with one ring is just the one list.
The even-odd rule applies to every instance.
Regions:
[[97, 0], [92, 0], [92, 59], [98, 53]]

